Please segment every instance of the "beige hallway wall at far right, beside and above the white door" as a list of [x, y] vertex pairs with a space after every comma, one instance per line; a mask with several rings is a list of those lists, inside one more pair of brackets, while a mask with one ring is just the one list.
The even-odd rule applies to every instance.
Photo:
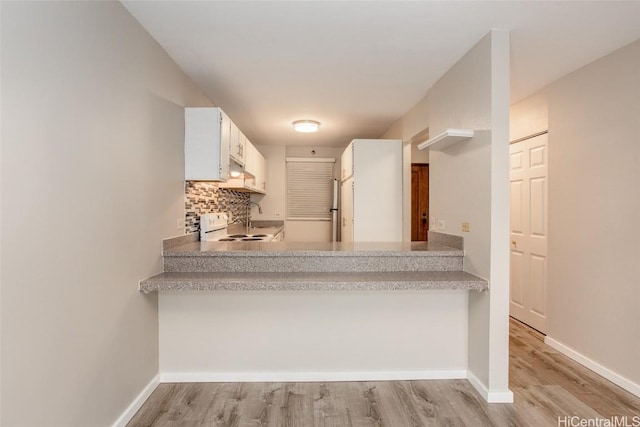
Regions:
[[636, 394], [638, 76], [640, 41], [512, 108], [512, 121], [535, 131], [549, 117], [548, 338]]

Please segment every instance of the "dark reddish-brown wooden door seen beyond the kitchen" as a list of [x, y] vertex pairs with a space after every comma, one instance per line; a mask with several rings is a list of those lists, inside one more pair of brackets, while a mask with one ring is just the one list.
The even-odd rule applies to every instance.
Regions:
[[411, 240], [426, 241], [429, 231], [429, 165], [411, 164]]

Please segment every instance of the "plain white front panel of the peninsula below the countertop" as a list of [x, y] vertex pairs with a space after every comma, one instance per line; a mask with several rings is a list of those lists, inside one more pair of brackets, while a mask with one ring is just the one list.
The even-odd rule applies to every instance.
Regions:
[[464, 377], [464, 291], [160, 295], [167, 381]]

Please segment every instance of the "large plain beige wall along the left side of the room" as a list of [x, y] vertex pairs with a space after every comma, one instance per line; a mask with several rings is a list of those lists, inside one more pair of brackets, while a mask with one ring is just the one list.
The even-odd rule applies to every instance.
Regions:
[[209, 103], [120, 3], [1, 7], [0, 424], [110, 425], [158, 374], [137, 282], [184, 217], [182, 107]]

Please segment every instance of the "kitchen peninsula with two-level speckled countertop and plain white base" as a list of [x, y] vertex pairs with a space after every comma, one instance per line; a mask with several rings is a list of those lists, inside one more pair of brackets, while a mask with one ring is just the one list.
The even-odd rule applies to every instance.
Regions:
[[430, 242], [165, 240], [160, 380], [364, 381], [468, 377], [462, 238]]

